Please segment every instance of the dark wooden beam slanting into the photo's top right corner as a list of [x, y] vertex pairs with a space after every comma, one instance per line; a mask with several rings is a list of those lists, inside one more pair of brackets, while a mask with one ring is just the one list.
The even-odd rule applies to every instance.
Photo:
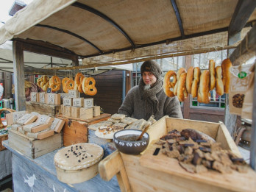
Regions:
[[229, 35], [241, 32], [256, 7], [255, 0], [239, 0], [229, 26]]

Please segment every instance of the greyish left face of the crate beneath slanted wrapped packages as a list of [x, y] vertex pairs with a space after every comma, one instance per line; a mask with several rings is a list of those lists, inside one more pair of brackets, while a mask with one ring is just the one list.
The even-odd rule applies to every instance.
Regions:
[[21, 152], [27, 157], [33, 158], [35, 156], [35, 149], [32, 146], [32, 141], [35, 139], [28, 139], [21, 135], [21, 133], [14, 130], [9, 130], [9, 145], [13, 149]]

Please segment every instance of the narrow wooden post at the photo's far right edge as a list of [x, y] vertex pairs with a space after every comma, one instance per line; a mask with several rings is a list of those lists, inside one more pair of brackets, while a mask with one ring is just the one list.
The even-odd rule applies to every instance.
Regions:
[[[256, 75], [256, 66], [255, 66]], [[255, 88], [253, 90], [253, 108], [252, 108], [252, 135], [251, 135], [251, 146], [250, 146], [250, 166], [256, 171], [256, 77], [255, 77]]]

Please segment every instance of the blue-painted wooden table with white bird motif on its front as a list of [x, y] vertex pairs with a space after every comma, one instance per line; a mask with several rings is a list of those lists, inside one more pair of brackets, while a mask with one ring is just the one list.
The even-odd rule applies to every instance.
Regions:
[[60, 182], [54, 166], [54, 154], [59, 149], [31, 159], [12, 149], [8, 141], [3, 145], [13, 153], [13, 191], [120, 191], [116, 177], [106, 182], [99, 174], [78, 184]]

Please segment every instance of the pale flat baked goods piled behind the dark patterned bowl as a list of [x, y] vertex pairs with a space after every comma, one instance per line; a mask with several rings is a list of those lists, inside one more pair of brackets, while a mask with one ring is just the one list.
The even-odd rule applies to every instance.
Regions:
[[127, 117], [124, 114], [115, 113], [107, 121], [101, 121], [97, 124], [90, 124], [89, 129], [95, 130], [95, 135], [99, 138], [113, 139], [115, 132], [118, 132], [121, 129], [139, 129], [143, 130], [147, 122], [149, 124], [154, 124], [157, 122], [152, 115], [148, 121], [145, 119], [136, 119]]

